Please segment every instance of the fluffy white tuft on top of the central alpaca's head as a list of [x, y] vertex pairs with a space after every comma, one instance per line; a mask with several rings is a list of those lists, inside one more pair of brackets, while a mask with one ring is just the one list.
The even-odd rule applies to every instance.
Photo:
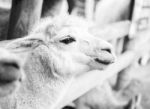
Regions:
[[73, 15], [46, 17], [41, 19], [31, 30], [30, 33], [42, 33], [52, 38], [57, 32], [65, 27], [88, 28], [93, 23]]

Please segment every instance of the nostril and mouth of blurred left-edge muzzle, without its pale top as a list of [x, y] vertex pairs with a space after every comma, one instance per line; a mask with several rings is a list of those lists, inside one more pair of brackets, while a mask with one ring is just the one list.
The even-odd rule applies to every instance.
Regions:
[[0, 63], [0, 97], [5, 97], [14, 92], [22, 82], [21, 69], [18, 63]]

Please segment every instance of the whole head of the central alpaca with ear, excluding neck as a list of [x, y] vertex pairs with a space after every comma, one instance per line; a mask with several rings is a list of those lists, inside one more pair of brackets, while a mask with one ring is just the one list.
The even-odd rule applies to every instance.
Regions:
[[59, 74], [103, 70], [114, 62], [111, 45], [90, 34], [84, 21], [72, 17], [43, 19], [27, 37], [12, 42], [9, 47], [46, 49], [41, 54], [46, 53], [48, 65]]

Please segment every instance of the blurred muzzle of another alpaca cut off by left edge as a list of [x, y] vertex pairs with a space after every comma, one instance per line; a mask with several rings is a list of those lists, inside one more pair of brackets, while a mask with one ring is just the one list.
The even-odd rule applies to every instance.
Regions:
[[18, 57], [5, 49], [0, 49], [0, 97], [12, 94], [23, 79]]

